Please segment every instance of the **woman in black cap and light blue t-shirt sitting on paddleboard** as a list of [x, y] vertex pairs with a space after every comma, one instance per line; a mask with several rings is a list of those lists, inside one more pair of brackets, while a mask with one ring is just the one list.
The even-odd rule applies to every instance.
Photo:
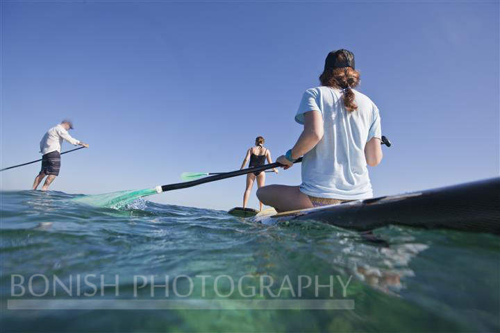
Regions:
[[381, 123], [376, 105], [353, 89], [360, 82], [354, 55], [328, 53], [320, 87], [306, 90], [295, 121], [303, 124], [297, 143], [276, 162], [284, 169], [303, 155], [300, 186], [269, 185], [259, 200], [279, 212], [372, 198], [367, 164], [382, 160]]

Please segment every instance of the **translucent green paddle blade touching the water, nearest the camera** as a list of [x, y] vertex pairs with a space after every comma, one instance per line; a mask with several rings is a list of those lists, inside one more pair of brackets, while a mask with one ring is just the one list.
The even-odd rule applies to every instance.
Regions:
[[141, 198], [142, 196], [151, 196], [152, 194], [157, 193], [159, 193], [157, 187], [153, 187], [151, 189], [131, 189], [128, 191], [79, 196], [78, 198], [74, 198], [72, 200], [77, 203], [85, 203], [85, 205], [120, 208], [127, 203], [131, 203], [135, 199]]

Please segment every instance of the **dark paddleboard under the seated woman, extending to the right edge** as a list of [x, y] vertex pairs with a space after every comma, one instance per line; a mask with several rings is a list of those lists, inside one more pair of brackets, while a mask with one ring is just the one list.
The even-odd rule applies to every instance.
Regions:
[[360, 231], [407, 225], [500, 234], [500, 178], [310, 210], [264, 211], [254, 219], [266, 224], [315, 220]]

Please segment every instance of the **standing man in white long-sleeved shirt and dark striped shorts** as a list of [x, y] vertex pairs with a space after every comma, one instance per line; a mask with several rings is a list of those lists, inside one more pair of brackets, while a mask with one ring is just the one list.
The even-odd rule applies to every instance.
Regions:
[[48, 176], [42, 186], [42, 191], [47, 191], [49, 185], [59, 176], [60, 169], [60, 151], [63, 140], [66, 140], [70, 144], [75, 146], [80, 145], [88, 148], [88, 144], [74, 139], [67, 133], [68, 130], [73, 129], [73, 123], [69, 120], [63, 120], [60, 124], [54, 126], [53, 128], [47, 130], [42, 141], [40, 141], [40, 153], [42, 153], [42, 170], [36, 176], [33, 182], [33, 189], [37, 189], [38, 185], [45, 176]]

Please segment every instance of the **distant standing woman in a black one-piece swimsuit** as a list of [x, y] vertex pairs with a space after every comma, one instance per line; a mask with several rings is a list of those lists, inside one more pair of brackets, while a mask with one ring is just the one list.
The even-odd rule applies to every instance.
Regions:
[[[247, 151], [247, 155], [243, 160], [243, 164], [241, 169], [247, 165], [247, 162], [250, 161], [249, 167], [259, 167], [260, 165], [265, 164], [265, 160], [267, 162], [272, 163], [271, 152], [269, 149], [264, 146], [265, 139], [263, 137], [256, 137], [255, 147], [249, 148]], [[273, 169], [274, 172], [278, 173], [278, 169]], [[253, 181], [257, 178], [257, 187], [263, 187], [265, 183], [265, 172], [259, 171], [254, 173], [247, 174], [247, 188], [243, 194], [243, 208], [247, 207], [248, 199], [250, 197], [250, 192], [253, 187]], [[260, 210], [263, 209], [263, 203], [259, 201]]]

